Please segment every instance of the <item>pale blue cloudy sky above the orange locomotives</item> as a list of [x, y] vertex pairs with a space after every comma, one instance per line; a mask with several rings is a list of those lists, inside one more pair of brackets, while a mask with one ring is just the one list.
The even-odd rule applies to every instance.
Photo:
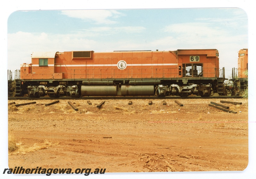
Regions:
[[15, 11], [7, 22], [8, 69], [32, 52], [218, 49], [226, 76], [248, 48], [240, 8]]

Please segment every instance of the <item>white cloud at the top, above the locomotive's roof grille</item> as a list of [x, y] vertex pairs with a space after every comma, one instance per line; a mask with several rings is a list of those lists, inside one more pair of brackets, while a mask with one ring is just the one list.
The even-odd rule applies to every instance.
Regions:
[[115, 24], [116, 21], [113, 19], [122, 15], [122, 13], [116, 10], [65, 10], [61, 11], [61, 14], [72, 18], [92, 21], [96, 24]]

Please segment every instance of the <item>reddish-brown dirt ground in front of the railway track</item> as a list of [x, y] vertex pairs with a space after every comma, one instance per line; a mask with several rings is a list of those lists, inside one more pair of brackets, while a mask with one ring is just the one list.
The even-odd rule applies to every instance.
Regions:
[[[8, 107], [9, 168], [106, 168], [107, 172], [237, 171], [248, 164], [248, 100], [236, 114], [220, 99], [68, 100]], [[16, 104], [31, 101], [8, 101]]]

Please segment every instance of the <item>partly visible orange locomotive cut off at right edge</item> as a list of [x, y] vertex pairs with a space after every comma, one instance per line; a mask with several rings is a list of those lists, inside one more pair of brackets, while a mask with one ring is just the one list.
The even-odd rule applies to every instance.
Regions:
[[238, 52], [238, 69], [232, 70], [232, 86], [230, 87], [231, 95], [237, 96], [248, 86], [248, 76], [244, 73], [248, 71], [248, 49], [244, 48]]

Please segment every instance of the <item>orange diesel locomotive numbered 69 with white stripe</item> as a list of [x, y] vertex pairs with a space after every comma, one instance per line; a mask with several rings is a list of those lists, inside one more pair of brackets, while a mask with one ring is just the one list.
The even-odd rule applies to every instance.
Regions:
[[218, 56], [216, 49], [33, 53], [16, 96], [227, 95]]

